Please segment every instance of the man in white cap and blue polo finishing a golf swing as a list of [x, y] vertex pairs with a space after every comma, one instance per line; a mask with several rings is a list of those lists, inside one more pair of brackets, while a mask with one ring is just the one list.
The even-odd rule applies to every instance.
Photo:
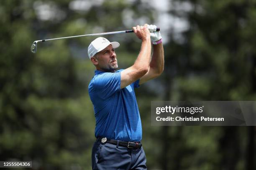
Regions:
[[142, 41], [141, 51], [134, 64], [125, 70], [117, 70], [115, 48], [119, 47], [118, 42], [98, 37], [88, 47], [89, 58], [96, 67], [89, 84], [97, 138], [92, 148], [93, 170], [146, 170], [134, 87], [163, 72], [164, 49], [155, 25], [137, 25], [133, 31]]

